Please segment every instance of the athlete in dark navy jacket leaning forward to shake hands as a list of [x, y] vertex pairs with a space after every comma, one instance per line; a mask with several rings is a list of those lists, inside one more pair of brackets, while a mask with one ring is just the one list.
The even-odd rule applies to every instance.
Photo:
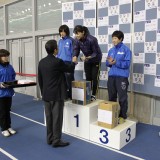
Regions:
[[84, 56], [81, 57], [81, 60], [84, 61], [86, 81], [91, 81], [91, 101], [94, 101], [96, 100], [96, 94], [98, 91], [102, 52], [98, 45], [97, 38], [90, 35], [87, 27], [77, 25], [73, 32], [76, 36], [73, 59], [77, 60], [80, 50], [83, 52]]

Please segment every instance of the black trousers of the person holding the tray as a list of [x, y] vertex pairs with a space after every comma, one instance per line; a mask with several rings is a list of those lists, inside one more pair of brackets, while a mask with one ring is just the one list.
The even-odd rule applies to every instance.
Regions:
[[0, 127], [1, 131], [11, 127], [11, 110], [12, 97], [0, 98]]

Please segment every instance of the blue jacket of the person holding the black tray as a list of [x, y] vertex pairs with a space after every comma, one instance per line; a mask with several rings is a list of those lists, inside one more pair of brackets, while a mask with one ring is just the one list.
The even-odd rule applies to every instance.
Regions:
[[[0, 83], [14, 81], [16, 73], [13, 67], [8, 65], [0, 64]], [[12, 88], [0, 88], [0, 98], [2, 97], [12, 97], [14, 95], [14, 90]]]

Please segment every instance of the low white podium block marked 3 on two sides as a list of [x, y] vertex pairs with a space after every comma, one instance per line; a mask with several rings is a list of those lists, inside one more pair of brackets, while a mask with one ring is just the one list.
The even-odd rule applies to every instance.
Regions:
[[113, 129], [98, 126], [97, 122], [90, 124], [90, 141], [120, 150], [136, 136], [136, 122], [126, 120]]

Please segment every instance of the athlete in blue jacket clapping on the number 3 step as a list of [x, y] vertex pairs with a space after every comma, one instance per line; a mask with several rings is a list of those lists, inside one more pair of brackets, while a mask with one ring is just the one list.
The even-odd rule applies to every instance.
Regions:
[[112, 42], [114, 47], [108, 52], [106, 66], [110, 67], [108, 73], [108, 95], [109, 101], [117, 101], [117, 94], [120, 105], [119, 123], [127, 118], [128, 110], [128, 77], [130, 73], [131, 51], [123, 44], [124, 34], [121, 31], [114, 31]]

